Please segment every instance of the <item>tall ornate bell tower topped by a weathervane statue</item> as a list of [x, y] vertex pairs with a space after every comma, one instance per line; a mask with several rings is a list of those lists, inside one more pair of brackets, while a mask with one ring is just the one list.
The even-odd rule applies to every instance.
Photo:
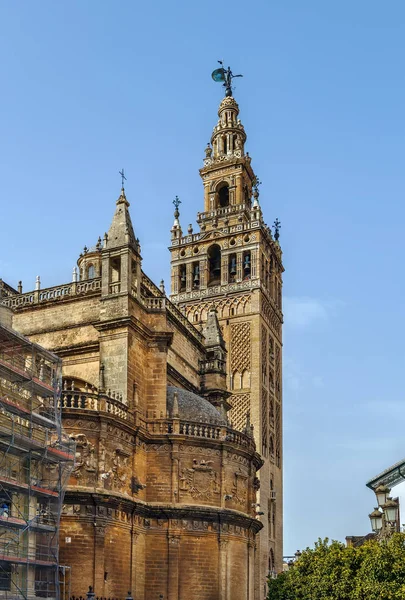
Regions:
[[216, 309], [228, 350], [228, 417], [237, 429], [254, 426], [264, 460], [257, 494], [263, 529], [255, 549], [255, 599], [261, 600], [269, 571], [281, 571], [283, 555], [282, 253], [278, 221], [272, 234], [263, 220], [232, 72], [215, 75], [226, 95], [200, 169], [204, 211], [197, 213], [199, 232], [190, 225], [185, 233], [175, 201], [171, 300], [194, 325]]

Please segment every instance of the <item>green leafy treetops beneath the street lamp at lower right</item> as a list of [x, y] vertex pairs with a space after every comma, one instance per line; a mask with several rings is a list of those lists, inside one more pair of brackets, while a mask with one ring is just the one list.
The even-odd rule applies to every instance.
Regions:
[[405, 534], [358, 548], [319, 539], [269, 580], [268, 600], [405, 600]]

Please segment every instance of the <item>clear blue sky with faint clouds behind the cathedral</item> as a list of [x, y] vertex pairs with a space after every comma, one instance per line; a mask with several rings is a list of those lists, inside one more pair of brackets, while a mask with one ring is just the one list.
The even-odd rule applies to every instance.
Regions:
[[[172, 199], [234, 72], [285, 261], [285, 554], [369, 530], [365, 481], [405, 456], [405, 4], [79, 0], [0, 5], [0, 276], [69, 281], [125, 168], [144, 269], [169, 281]], [[404, 498], [405, 500], [405, 498]]]

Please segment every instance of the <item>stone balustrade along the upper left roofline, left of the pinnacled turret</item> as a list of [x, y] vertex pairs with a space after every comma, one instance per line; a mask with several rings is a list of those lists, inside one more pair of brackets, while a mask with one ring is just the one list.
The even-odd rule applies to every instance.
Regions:
[[70, 296], [94, 293], [99, 290], [101, 290], [101, 277], [95, 277], [86, 281], [73, 281], [51, 288], [44, 288], [43, 290], [8, 296], [3, 298], [2, 302], [10, 308], [20, 308], [30, 304], [41, 304]]

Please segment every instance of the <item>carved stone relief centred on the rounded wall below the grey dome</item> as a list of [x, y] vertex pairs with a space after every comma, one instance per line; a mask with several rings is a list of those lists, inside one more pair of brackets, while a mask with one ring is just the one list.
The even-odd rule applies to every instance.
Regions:
[[212, 461], [193, 460], [191, 469], [180, 472], [180, 491], [198, 500], [210, 500], [220, 493], [219, 475], [212, 468]]

